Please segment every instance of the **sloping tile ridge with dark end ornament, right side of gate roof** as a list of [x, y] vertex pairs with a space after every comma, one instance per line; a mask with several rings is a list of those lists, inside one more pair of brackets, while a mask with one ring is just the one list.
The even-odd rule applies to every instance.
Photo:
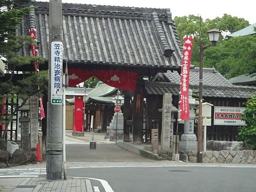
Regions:
[[157, 15], [157, 12], [153, 12], [153, 19], [154, 19], [154, 26], [155, 26], [155, 31], [156, 31], [156, 35], [157, 38], [159, 40], [159, 43], [161, 45], [161, 49], [163, 52], [164, 56], [172, 56], [172, 52], [174, 52], [174, 50], [171, 49], [171, 47], [168, 44], [168, 41], [166, 39], [166, 35], [164, 33], [163, 27], [161, 26], [159, 17]]

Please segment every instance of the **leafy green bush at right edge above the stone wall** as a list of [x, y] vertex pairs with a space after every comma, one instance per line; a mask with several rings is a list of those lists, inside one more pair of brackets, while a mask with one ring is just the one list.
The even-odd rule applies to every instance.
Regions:
[[245, 126], [239, 127], [237, 139], [244, 142], [244, 146], [256, 149], [256, 94], [246, 103], [246, 110], [242, 114]]

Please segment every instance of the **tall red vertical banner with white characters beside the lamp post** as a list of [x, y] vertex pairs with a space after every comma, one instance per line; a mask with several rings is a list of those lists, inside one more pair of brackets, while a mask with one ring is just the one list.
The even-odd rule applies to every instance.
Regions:
[[189, 120], [189, 71], [192, 55], [192, 37], [183, 38], [183, 57], [180, 75], [180, 119]]

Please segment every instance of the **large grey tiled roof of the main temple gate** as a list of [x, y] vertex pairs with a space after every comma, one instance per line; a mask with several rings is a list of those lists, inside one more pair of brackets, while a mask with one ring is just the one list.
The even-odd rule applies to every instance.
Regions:
[[[28, 35], [35, 23], [39, 55], [48, 60], [49, 3], [32, 4], [37, 9], [23, 18], [17, 34]], [[181, 65], [182, 48], [169, 9], [63, 3], [62, 10], [64, 60], [71, 64], [159, 69]], [[29, 47], [24, 47], [22, 55], [28, 54]]]

